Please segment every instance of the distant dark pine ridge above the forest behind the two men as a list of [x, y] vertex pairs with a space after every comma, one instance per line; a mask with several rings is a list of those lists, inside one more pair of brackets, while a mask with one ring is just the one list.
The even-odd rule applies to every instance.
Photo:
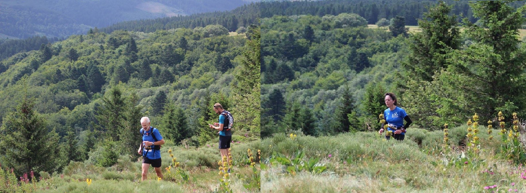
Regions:
[[[200, 2], [200, 3], [206, 3]], [[178, 3], [177, 3], [178, 4]], [[0, 3], [0, 6], [2, 4]], [[227, 6], [227, 5], [225, 5]], [[9, 17], [13, 17], [10, 19], [6, 19], [6, 22], [9, 21], [18, 21], [16, 25], [22, 25], [23, 22], [20, 22], [18, 18], [16, 17], [17, 14], [11, 14]], [[53, 14], [50, 14], [53, 15]], [[46, 17], [50, 17], [49, 14], [46, 14]], [[2, 16], [2, 9], [0, 9], [0, 17]], [[37, 17], [38, 18], [38, 17]], [[149, 17], [148, 17], [149, 18]], [[232, 11], [225, 11], [225, 12], [210, 12], [210, 13], [202, 13], [202, 14], [193, 14], [189, 16], [179, 16], [179, 17], [163, 17], [163, 18], [157, 18], [157, 19], [143, 19], [143, 20], [137, 20], [137, 21], [130, 21], [130, 22], [122, 22], [117, 23], [109, 27], [100, 28], [83, 28], [79, 31], [68, 31], [68, 32], [62, 32], [56, 27], [47, 27], [46, 30], [49, 30], [49, 32], [44, 34], [51, 35], [50, 37], [53, 38], [45, 38], [45, 36], [32, 36], [28, 37], [26, 39], [0, 39], [0, 60], [5, 59], [9, 56], [12, 56], [14, 54], [20, 53], [20, 52], [27, 52], [29, 50], [37, 50], [41, 47], [41, 44], [48, 44], [53, 43], [58, 40], [55, 36], [68, 36], [72, 34], [83, 34], [88, 32], [90, 29], [93, 31], [100, 31], [105, 33], [112, 33], [116, 30], [124, 30], [124, 31], [133, 31], [133, 32], [155, 32], [157, 30], [161, 29], [173, 29], [173, 28], [190, 28], [193, 29], [195, 27], [205, 27], [207, 25], [222, 25], [225, 26], [229, 32], [245, 32], [246, 28], [250, 24], [256, 24], [258, 23], [259, 18], [259, 6], [255, 3], [251, 3], [248, 5], [243, 5], [240, 7], [235, 8]], [[0, 34], [3, 33], [2, 30], [8, 30], [13, 31], [13, 33], [25, 33], [24, 31], [26, 29], [19, 29], [16, 26], [11, 26], [2, 23], [2, 19], [0, 19], [0, 26], [6, 25], [6, 27], [0, 28]], [[62, 21], [60, 19], [46, 19], [46, 21]], [[48, 24], [40, 24], [42, 21], [34, 21], [35, 23], [39, 23], [39, 26], [42, 25], [48, 25]], [[54, 25], [54, 24], [49, 24]], [[97, 24], [98, 25], [98, 24]], [[95, 26], [97, 26], [95, 25]], [[31, 25], [24, 24], [24, 27], [30, 27]], [[60, 25], [65, 26], [65, 25]], [[98, 25], [101, 26], [101, 25]], [[105, 25], [102, 25], [105, 26]], [[31, 27], [30, 27], [31, 28]], [[37, 29], [27, 29], [29, 31], [38, 31]], [[60, 35], [60, 34], [62, 35]], [[7, 33], [9, 34], [9, 33]], [[12, 34], [12, 35], [15, 35]], [[21, 37], [26, 37], [21, 36]], [[48, 45], [49, 46], [49, 45]], [[0, 72], [3, 72], [3, 70], [0, 68]]]

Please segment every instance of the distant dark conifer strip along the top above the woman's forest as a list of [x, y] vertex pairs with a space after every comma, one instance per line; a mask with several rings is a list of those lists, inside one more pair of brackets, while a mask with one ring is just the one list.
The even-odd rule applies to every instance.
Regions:
[[[469, 21], [476, 22], [468, 1], [446, 1], [454, 5], [452, 14], [466, 16]], [[395, 16], [406, 18], [406, 25], [418, 25], [427, 7], [437, 4], [437, 1], [386, 1], [386, 0], [330, 0], [330, 1], [275, 1], [262, 2], [261, 18], [274, 15], [338, 15], [355, 13], [365, 18], [368, 24], [376, 24], [381, 18], [391, 19]], [[521, 1], [511, 3], [513, 7], [523, 5]]]

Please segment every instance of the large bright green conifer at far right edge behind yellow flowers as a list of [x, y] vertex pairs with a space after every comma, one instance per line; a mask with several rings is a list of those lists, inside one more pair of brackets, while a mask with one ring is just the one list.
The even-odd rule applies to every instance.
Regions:
[[[466, 34], [474, 44], [464, 50], [452, 50], [448, 68], [454, 73], [450, 77], [451, 88], [460, 91], [468, 101], [477, 101], [484, 109], [476, 111], [481, 120], [489, 120], [497, 115], [497, 109], [513, 103], [519, 116], [524, 116], [523, 68], [524, 52], [519, 48], [518, 38], [521, 24], [526, 21], [522, 13], [526, 6], [517, 10], [503, 1], [472, 3], [473, 15], [480, 17], [481, 26], [474, 25], [464, 18]], [[506, 23], [502, 18], [508, 18]], [[504, 70], [505, 69], [505, 70]], [[508, 107], [511, 105], [508, 103]], [[507, 107], [507, 108], [508, 108]], [[461, 115], [470, 114], [460, 111]], [[506, 117], [511, 117], [507, 112]]]

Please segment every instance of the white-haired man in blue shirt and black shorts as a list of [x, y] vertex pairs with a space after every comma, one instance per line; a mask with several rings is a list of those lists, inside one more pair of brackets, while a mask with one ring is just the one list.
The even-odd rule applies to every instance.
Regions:
[[163, 173], [161, 172], [161, 152], [160, 145], [165, 143], [163, 136], [159, 133], [157, 128], [150, 126], [150, 119], [143, 117], [140, 119], [140, 125], [143, 126], [140, 129], [140, 134], [143, 135], [143, 143], [140, 144], [137, 153], [143, 155], [143, 181], [146, 179], [148, 174], [148, 168], [154, 167], [157, 176], [163, 179]]

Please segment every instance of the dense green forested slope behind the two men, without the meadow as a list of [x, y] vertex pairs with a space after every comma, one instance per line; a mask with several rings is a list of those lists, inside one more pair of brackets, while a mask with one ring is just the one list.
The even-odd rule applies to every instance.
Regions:
[[[198, 147], [216, 139], [207, 125], [216, 122], [215, 103], [236, 117], [233, 140], [259, 139], [259, 53], [256, 26], [246, 35], [229, 35], [220, 25], [153, 33], [94, 29], [43, 44], [0, 62], [0, 106], [6, 109], [0, 113], [0, 146], [19, 152], [27, 143], [57, 140], [58, 152], [46, 156], [53, 166], [35, 161], [33, 168], [16, 167], [17, 176], [60, 170], [70, 160], [113, 165], [104, 157], [107, 147], [136, 158], [142, 116], [150, 117], [168, 146]], [[26, 120], [21, 117], [36, 125], [20, 127]], [[13, 147], [26, 131], [39, 142]], [[2, 157], [3, 166], [14, 159]]]

